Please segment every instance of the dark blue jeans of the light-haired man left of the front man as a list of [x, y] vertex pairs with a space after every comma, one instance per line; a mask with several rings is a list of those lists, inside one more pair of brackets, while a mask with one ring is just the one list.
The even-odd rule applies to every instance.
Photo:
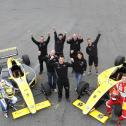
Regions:
[[55, 72], [48, 72], [48, 84], [51, 89], [56, 89], [57, 77]]

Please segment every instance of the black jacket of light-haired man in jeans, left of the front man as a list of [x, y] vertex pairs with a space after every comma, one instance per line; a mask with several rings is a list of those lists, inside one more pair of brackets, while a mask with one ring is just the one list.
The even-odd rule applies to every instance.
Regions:
[[45, 57], [46, 67], [48, 72], [55, 72], [54, 66], [52, 63], [58, 62], [58, 58], [55, 56], [54, 59], [50, 59], [50, 55]]

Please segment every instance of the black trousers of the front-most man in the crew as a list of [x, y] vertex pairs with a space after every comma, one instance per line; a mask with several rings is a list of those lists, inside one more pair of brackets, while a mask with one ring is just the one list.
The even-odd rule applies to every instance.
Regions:
[[69, 80], [68, 79], [64, 80], [64, 79], [58, 78], [57, 86], [58, 86], [58, 98], [62, 98], [62, 92], [63, 92], [63, 88], [64, 88], [66, 99], [68, 99], [69, 98], [69, 89], [70, 89]]

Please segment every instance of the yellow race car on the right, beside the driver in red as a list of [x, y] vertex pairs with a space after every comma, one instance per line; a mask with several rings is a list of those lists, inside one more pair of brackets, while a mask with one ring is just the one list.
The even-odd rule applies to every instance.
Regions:
[[[101, 104], [105, 104], [109, 99], [109, 90], [114, 87], [122, 78], [122, 75], [126, 73], [126, 62], [124, 56], [118, 56], [115, 59], [115, 66], [103, 71], [98, 76], [98, 87], [90, 93], [89, 83], [81, 82], [77, 88], [78, 98], [72, 104], [78, 109], [82, 110], [84, 115], [90, 115], [100, 121], [106, 123], [110, 118], [106, 114], [100, 112], [98, 108]], [[80, 98], [84, 94], [90, 95], [87, 102], [83, 102]], [[115, 105], [114, 114], [121, 115], [122, 108], [120, 105]]]

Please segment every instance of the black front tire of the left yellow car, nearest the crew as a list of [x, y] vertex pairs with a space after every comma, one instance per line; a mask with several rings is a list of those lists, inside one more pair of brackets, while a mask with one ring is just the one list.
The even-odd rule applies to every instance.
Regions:
[[48, 85], [48, 83], [42, 83], [41, 84], [41, 91], [45, 96], [50, 96], [51, 95], [51, 88]]

